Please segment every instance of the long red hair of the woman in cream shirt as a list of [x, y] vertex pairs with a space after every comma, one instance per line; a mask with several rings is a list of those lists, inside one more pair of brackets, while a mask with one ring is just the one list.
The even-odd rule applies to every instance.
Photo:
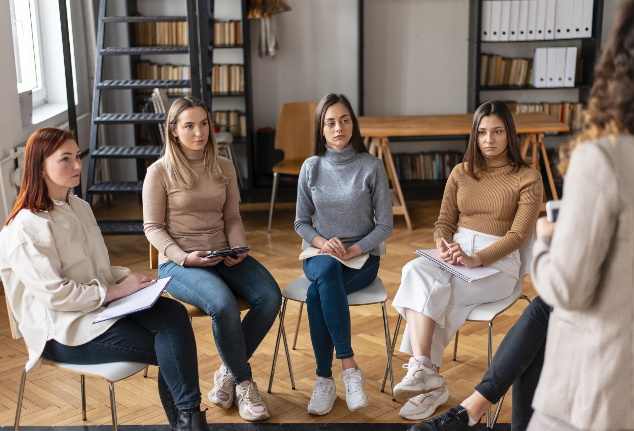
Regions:
[[53, 200], [48, 196], [48, 188], [42, 176], [42, 164], [44, 159], [53, 154], [63, 143], [74, 140], [73, 132], [57, 127], [44, 127], [30, 136], [24, 154], [24, 174], [18, 200], [15, 201], [4, 226], [8, 225], [24, 208], [35, 214], [53, 209]]

